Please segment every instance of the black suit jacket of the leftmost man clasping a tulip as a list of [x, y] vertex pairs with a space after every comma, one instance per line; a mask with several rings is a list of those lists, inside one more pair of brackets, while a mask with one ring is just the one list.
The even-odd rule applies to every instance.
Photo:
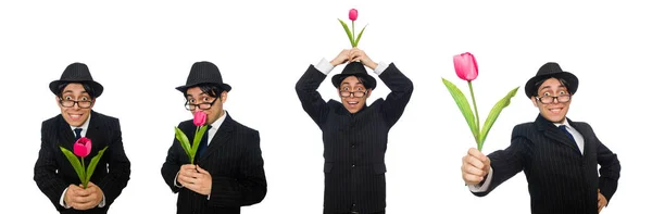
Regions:
[[73, 165], [59, 148], [62, 146], [73, 151], [75, 133], [61, 114], [41, 125], [41, 148], [34, 166], [34, 180], [60, 213], [106, 213], [129, 180], [131, 164], [123, 148], [120, 121], [91, 111], [86, 137], [92, 141], [92, 151], [85, 159], [86, 166], [92, 156], [109, 146], [90, 178], [104, 192], [106, 204], [83, 212], [59, 204], [65, 188], [82, 184]]

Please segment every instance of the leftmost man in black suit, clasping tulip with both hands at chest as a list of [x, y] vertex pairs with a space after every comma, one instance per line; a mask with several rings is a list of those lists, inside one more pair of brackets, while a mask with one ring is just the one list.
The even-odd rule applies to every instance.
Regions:
[[[92, 80], [86, 64], [68, 65], [61, 79], [50, 83], [50, 90], [55, 95], [61, 114], [41, 125], [41, 148], [34, 166], [34, 180], [60, 213], [106, 213], [127, 186], [131, 172], [120, 122], [92, 111], [103, 87]], [[109, 147], [86, 189], [59, 148], [73, 151], [73, 143], [80, 137], [92, 141], [85, 165], [98, 151]]]

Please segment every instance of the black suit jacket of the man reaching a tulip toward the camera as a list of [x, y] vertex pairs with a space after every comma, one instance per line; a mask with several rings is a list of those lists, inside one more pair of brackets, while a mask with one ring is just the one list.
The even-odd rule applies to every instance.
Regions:
[[486, 196], [523, 171], [532, 213], [598, 213], [598, 189], [611, 201], [618, 186], [620, 163], [589, 124], [570, 119], [568, 124], [584, 137], [584, 155], [562, 130], [539, 115], [534, 123], [514, 127], [507, 149], [488, 155], [493, 177], [488, 191], [475, 194]]

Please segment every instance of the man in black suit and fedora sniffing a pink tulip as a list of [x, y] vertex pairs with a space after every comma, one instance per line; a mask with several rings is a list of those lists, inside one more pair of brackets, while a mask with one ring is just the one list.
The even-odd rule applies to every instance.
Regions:
[[[173, 192], [178, 192], [177, 213], [240, 213], [240, 206], [260, 203], [267, 193], [259, 131], [234, 121], [223, 109], [231, 87], [222, 81], [211, 62], [192, 65], [185, 86], [177, 90], [186, 109], [206, 113], [209, 128], [190, 164], [179, 141], [170, 147], [161, 174]], [[178, 127], [192, 143], [192, 119]]]

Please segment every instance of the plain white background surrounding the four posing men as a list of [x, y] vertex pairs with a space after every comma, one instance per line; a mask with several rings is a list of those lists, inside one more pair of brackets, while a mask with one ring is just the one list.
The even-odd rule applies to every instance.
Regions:
[[[337, 18], [360, 11], [368, 24], [360, 48], [394, 62], [415, 86], [392, 128], [386, 155], [388, 213], [528, 213], [523, 173], [485, 198], [468, 192], [461, 158], [475, 147], [441, 83], [468, 92], [454, 54], [476, 55], [480, 117], [549, 61], [576, 74], [568, 116], [589, 122], [623, 165], [603, 213], [649, 203], [648, 50], [652, 15], [644, 1], [20, 1], [0, 3], [3, 99], [0, 213], [55, 213], [33, 180], [40, 124], [59, 114], [48, 84], [66, 65], [87, 63], [104, 87], [93, 110], [118, 117], [131, 179], [110, 213], [174, 213], [176, 194], [161, 177], [173, 127], [191, 115], [174, 88], [190, 66], [212, 61], [233, 86], [226, 110], [261, 133], [268, 193], [243, 213], [321, 213], [321, 131], [301, 109], [294, 84], [311, 63], [348, 48]], [[611, 2], [611, 1], [610, 1]], [[330, 76], [319, 91], [337, 98]], [[379, 81], [381, 83], [381, 81]], [[379, 84], [371, 100], [388, 93]], [[494, 124], [485, 151], [506, 148], [512, 127], [538, 111], [519, 89]], [[467, 93], [468, 96], [468, 93]]]

